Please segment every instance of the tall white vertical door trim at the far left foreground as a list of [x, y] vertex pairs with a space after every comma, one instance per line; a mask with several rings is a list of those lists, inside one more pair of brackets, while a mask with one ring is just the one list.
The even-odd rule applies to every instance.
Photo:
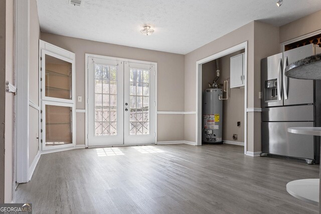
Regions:
[[16, 181], [29, 181], [29, 1], [15, 1]]

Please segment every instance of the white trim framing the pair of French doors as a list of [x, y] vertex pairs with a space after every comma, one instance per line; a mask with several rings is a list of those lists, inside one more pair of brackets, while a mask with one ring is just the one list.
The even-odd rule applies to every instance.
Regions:
[[118, 61], [129, 62], [129, 63], [148, 64], [148, 65], [153, 65], [155, 67], [155, 83], [154, 83], [155, 84], [155, 144], [157, 144], [157, 63], [85, 53], [85, 146], [86, 148], [88, 148], [88, 58], [89, 57], [107, 59], [107, 60], [118, 60]]

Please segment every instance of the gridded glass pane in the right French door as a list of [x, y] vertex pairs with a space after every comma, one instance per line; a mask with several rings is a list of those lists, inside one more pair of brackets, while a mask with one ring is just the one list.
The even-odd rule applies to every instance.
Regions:
[[147, 69], [129, 69], [129, 133], [149, 134], [149, 73]]

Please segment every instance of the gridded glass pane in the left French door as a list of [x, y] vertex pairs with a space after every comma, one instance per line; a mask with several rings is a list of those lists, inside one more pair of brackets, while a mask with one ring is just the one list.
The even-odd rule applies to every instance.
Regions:
[[94, 64], [95, 136], [117, 135], [117, 66]]

